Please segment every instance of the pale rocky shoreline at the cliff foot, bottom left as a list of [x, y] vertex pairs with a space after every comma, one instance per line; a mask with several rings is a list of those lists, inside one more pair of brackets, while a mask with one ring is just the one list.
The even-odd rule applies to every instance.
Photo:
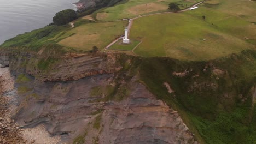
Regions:
[[17, 108], [14, 82], [9, 68], [0, 68], [0, 143], [60, 143], [60, 136], [51, 137], [44, 125], [23, 129], [11, 119]]

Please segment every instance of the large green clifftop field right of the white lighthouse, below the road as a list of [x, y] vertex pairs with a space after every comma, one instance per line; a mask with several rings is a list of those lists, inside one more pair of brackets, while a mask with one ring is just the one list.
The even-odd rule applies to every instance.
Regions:
[[[203, 15], [206, 20], [202, 19]], [[137, 55], [207, 60], [253, 49], [255, 33], [256, 25], [251, 22], [200, 7], [184, 13], [136, 19], [130, 38], [143, 41], [135, 50]]]

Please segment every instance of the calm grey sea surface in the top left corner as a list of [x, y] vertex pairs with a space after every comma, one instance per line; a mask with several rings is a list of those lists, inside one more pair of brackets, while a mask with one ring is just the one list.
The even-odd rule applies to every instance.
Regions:
[[18, 34], [52, 22], [64, 9], [75, 9], [78, 0], [0, 0], [0, 44]]

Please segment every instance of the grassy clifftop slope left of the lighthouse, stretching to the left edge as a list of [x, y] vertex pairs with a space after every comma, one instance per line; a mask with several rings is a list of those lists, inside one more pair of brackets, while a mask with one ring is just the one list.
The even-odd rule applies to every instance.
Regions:
[[69, 25], [47, 26], [17, 35], [5, 41], [1, 47], [30, 47], [37, 50], [43, 45], [54, 44], [68, 51], [90, 51], [95, 45], [103, 49], [123, 34], [126, 25], [127, 21], [93, 22], [80, 19], [75, 22], [74, 28]]

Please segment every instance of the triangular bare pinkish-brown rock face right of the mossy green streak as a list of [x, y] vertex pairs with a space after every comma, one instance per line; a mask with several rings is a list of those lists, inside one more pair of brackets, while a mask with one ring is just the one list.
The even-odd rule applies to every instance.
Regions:
[[104, 107], [99, 143], [196, 143], [177, 111], [142, 84], [135, 87], [126, 100]]

